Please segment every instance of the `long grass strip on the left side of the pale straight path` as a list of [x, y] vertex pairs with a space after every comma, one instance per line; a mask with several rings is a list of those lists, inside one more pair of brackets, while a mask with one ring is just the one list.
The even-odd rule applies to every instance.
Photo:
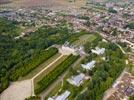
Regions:
[[30, 72], [28, 75], [25, 77], [20, 78], [19, 80], [26, 80], [26, 79], [31, 79], [34, 77], [38, 72], [40, 72], [42, 69], [44, 69], [47, 65], [52, 63], [56, 58], [58, 58], [61, 54], [57, 53], [56, 55], [52, 56], [49, 58], [47, 61], [39, 65], [36, 69], [34, 69], [32, 72]]

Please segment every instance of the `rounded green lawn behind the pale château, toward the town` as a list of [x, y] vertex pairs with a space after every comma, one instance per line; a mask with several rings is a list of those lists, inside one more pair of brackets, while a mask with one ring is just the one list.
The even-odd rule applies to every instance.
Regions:
[[75, 41], [73, 44], [77, 46], [84, 45], [86, 42], [92, 42], [96, 39], [96, 36], [93, 34], [85, 34], [79, 37], [79, 40]]

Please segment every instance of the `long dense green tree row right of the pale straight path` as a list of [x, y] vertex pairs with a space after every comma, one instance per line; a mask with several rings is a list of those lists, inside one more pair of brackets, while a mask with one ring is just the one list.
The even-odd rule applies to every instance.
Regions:
[[60, 63], [53, 71], [45, 75], [42, 80], [37, 83], [35, 93], [39, 94], [46, 89], [54, 80], [56, 80], [68, 67], [70, 67], [79, 56], [70, 55], [62, 63]]

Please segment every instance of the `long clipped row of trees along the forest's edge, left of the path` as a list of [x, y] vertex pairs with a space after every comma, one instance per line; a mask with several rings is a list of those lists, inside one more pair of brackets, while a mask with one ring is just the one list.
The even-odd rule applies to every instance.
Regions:
[[57, 52], [58, 52], [57, 48], [50, 48], [48, 50], [40, 52], [39, 54], [31, 57], [28, 60], [28, 62], [20, 64], [18, 68], [12, 70], [10, 78], [12, 80], [17, 80], [19, 77], [27, 75], [41, 63], [43, 63], [44, 61], [48, 60], [50, 57], [55, 55]]

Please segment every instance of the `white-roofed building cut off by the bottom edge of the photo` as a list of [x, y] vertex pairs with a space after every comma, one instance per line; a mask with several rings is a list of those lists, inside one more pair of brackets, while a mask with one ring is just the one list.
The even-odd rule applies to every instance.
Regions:
[[69, 95], [70, 95], [70, 92], [69, 91], [65, 91], [64, 93], [62, 93], [59, 96], [49, 97], [48, 100], [67, 100]]

